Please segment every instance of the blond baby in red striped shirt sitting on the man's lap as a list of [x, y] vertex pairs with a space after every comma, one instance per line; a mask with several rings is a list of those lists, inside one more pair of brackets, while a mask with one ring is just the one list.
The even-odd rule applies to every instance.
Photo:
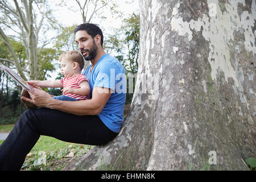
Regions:
[[67, 51], [59, 57], [61, 80], [31, 80], [27, 81], [32, 86], [62, 88], [62, 96], [53, 98], [61, 101], [79, 101], [90, 99], [90, 85], [87, 78], [81, 73], [84, 68], [84, 58], [78, 51]]

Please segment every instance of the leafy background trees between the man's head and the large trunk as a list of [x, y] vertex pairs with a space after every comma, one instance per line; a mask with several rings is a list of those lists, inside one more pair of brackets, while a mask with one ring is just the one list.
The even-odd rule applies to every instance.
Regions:
[[[139, 15], [131, 14], [123, 19], [122, 26], [114, 30], [113, 34], [106, 34], [104, 50], [115, 56], [126, 70], [127, 94], [126, 104], [131, 102], [138, 71], [139, 55]], [[129, 79], [130, 78], [130, 79]], [[129, 90], [129, 86], [133, 89]]]

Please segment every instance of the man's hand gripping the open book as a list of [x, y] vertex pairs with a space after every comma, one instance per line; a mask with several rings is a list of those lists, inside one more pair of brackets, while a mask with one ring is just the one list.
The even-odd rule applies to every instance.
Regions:
[[47, 107], [52, 100], [52, 97], [36, 86], [33, 90], [28, 90], [31, 98], [22, 97], [23, 100], [31, 102], [38, 107]]

